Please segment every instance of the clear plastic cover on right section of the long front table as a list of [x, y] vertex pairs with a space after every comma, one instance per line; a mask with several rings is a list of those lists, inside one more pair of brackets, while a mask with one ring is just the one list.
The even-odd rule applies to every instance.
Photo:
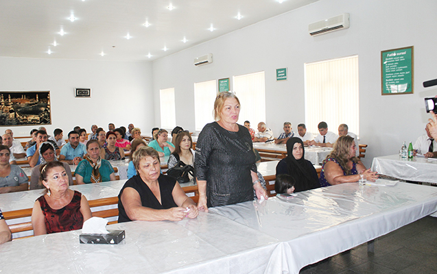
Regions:
[[[272, 273], [299, 269], [392, 232], [437, 210], [437, 188], [407, 183], [396, 186], [341, 184], [298, 192], [283, 201], [270, 198], [211, 208], [223, 216], [268, 234], [282, 244]], [[288, 271], [288, 272], [287, 272]]]

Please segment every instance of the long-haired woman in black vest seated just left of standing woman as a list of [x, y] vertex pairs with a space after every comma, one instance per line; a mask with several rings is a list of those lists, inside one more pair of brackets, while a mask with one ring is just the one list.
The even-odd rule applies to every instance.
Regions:
[[[189, 164], [194, 166], [194, 155], [193, 142], [191, 141], [191, 135], [188, 132], [180, 132], [175, 138], [175, 149], [172, 154], [170, 154], [167, 166], [169, 169], [176, 166], [178, 162], [181, 162], [182, 166]], [[189, 179], [191, 179], [189, 175]]]

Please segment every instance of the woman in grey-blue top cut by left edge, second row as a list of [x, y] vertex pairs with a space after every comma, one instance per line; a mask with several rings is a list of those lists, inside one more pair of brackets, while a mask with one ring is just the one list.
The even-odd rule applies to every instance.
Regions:
[[27, 190], [29, 178], [20, 166], [10, 164], [10, 150], [0, 145], [0, 193]]

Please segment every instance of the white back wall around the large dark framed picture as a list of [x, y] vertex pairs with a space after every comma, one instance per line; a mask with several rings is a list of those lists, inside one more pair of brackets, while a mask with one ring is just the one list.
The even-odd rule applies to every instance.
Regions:
[[[67, 138], [75, 125], [91, 132], [93, 124], [107, 130], [108, 123], [134, 123], [144, 133], [154, 126], [150, 62], [0, 58], [0, 75], [3, 91], [50, 90], [50, 135], [59, 127]], [[75, 98], [75, 88], [91, 88], [91, 98]], [[29, 136], [34, 127], [10, 128], [14, 136]]]

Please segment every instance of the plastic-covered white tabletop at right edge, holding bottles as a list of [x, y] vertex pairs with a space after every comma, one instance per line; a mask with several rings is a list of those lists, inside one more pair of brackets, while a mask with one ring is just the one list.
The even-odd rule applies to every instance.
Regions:
[[372, 170], [383, 175], [415, 182], [437, 184], [437, 160], [414, 157], [402, 159], [399, 155], [373, 158]]

